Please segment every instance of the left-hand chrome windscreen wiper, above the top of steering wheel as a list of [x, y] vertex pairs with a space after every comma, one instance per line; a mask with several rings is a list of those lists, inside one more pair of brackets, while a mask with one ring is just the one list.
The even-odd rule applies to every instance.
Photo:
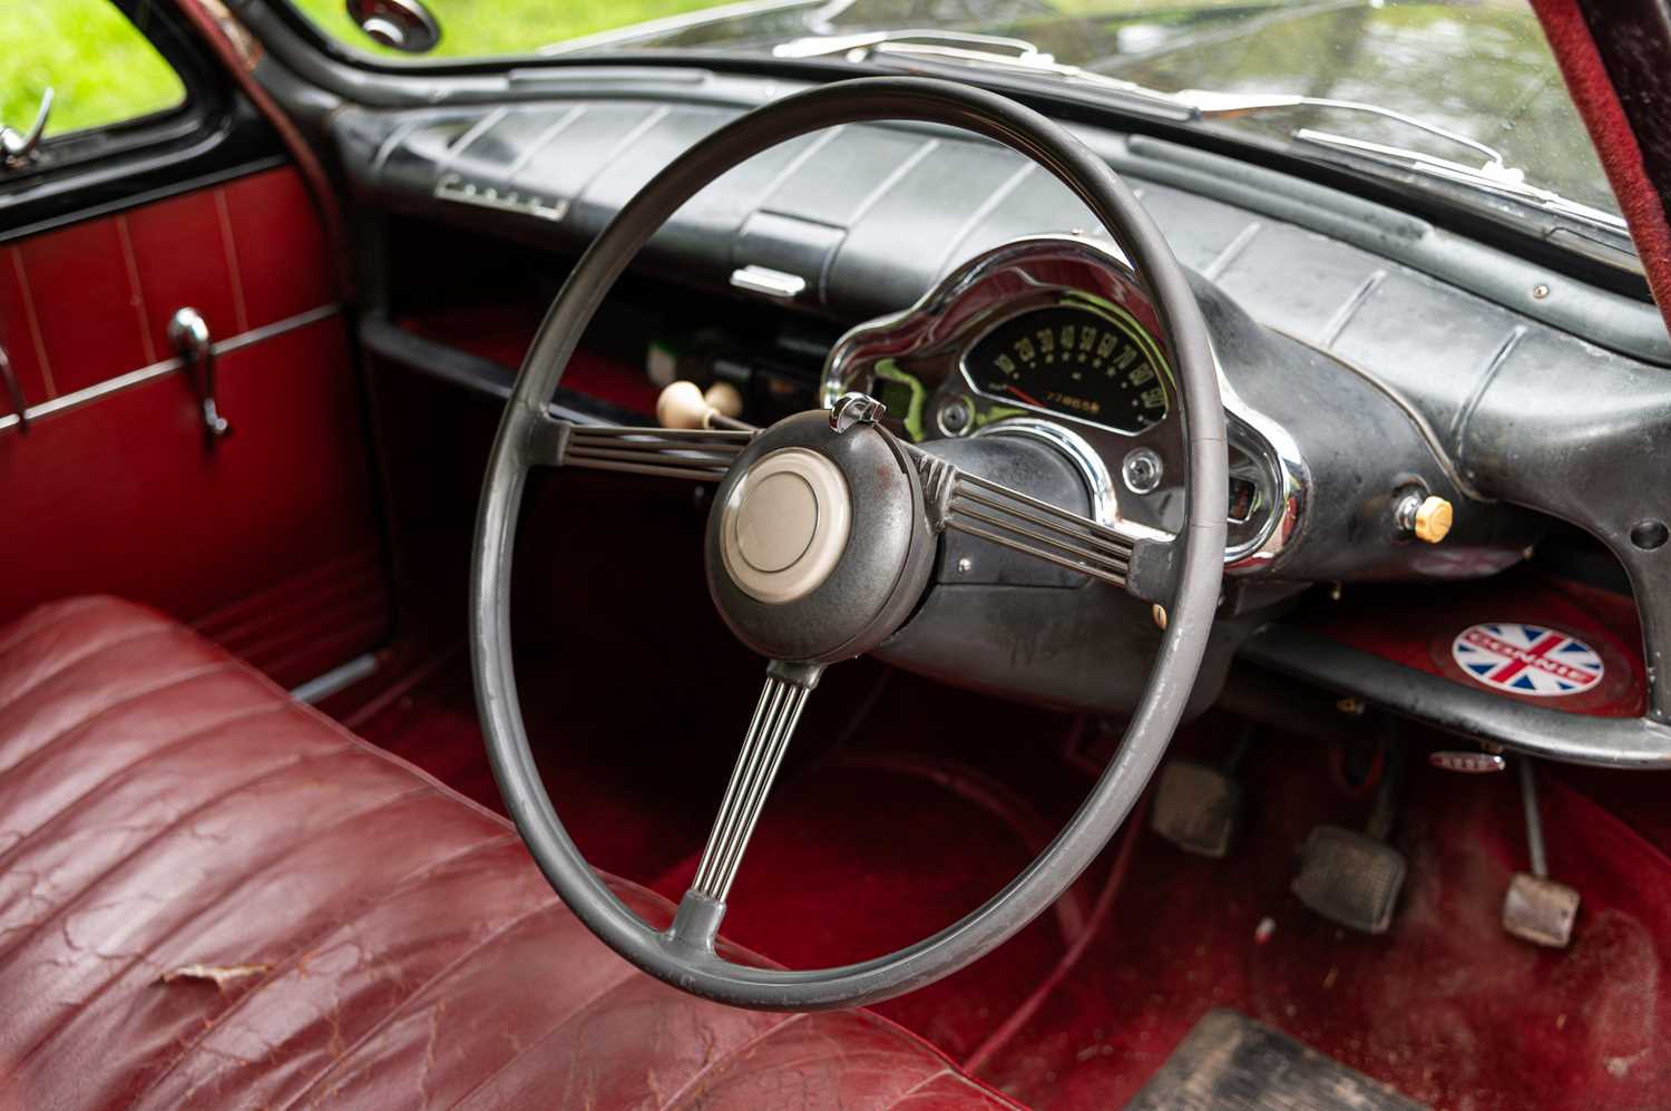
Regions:
[[1200, 115], [1195, 105], [1185, 104], [1170, 92], [1096, 74], [1078, 65], [1064, 65], [1054, 55], [1044, 53], [1026, 38], [951, 30], [879, 30], [856, 35], [794, 38], [774, 47], [772, 53], [780, 58], [815, 58], [841, 53], [851, 62], [882, 55], [917, 62], [971, 65], [1003, 70], [1006, 74], [1078, 82], [1120, 94], [1123, 99], [1141, 105], [1171, 109], [1185, 119], [1196, 119]]

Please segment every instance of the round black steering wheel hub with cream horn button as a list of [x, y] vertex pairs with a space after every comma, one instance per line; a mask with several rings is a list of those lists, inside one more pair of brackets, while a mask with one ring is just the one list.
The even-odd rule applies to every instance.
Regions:
[[927, 588], [934, 536], [917, 468], [871, 423], [802, 413], [760, 433], [709, 516], [709, 591], [774, 660], [827, 663], [881, 643]]

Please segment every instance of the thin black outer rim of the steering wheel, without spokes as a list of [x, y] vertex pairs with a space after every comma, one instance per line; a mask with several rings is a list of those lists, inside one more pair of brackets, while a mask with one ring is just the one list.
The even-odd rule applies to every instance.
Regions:
[[[817, 971], [739, 966], [638, 919], [592, 870], [551, 807], [523, 728], [511, 667], [516, 518], [546, 404], [603, 296], [650, 236], [739, 162], [814, 130], [881, 120], [957, 127], [1011, 147], [1068, 185], [1125, 249], [1166, 332], [1181, 401], [1188, 466], [1178, 588], [1118, 753], [1056, 839], [1003, 890], [932, 937], [872, 961]], [[541, 322], [506, 404], [476, 523], [470, 635], [488, 758], [511, 820], [540, 870], [593, 934], [645, 972], [692, 994], [755, 1009], [812, 1011], [876, 1002], [947, 976], [1054, 902], [1118, 830], [1160, 763], [1218, 605], [1227, 469], [1216, 366], [1185, 271], [1131, 189], [1064, 129], [1006, 97], [916, 77], [839, 82], [757, 109], [697, 142], [598, 236]]]

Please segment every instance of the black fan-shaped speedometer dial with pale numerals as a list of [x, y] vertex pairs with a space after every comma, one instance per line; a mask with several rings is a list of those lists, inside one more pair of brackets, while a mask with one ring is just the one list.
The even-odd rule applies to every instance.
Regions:
[[1009, 317], [964, 356], [983, 394], [1123, 433], [1161, 421], [1170, 408], [1166, 363], [1136, 321], [1088, 304], [1056, 304]]

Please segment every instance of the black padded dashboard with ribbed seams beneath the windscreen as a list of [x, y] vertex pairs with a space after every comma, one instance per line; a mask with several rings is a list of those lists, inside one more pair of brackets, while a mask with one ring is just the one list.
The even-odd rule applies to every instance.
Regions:
[[[692, 142], [794, 89], [672, 67], [511, 74], [508, 87], [496, 102], [341, 104], [323, 119], [368, 207], [573, 256]], [[1651, 304], [1208, 150], [1074, 130], [1133, 182], [1196, 276], [1240, 433], [1227, 516], [1247, 546], [1230, 553], [1227, 581], [1242, 576], [1248, 610], [1272, 598], [1252, 580], [1491, 575], [1566, 521], [1624, 566], [1658, 663], [1671, 563], [1638, 540], [1658, 535], [1639, 525], [1664, 515], [1656, 491], [1671, 478], [1671, 339]], [[1083, 205], [1018, 155], [941, 129], [849, 125], [727, 174], [657, 234], [638, 271], [852, 329], [856, 342], [1036, 236], [1108, 251]], [[1093, 269], [1118, 274], [1110, 257]], [[1008, 302], [959, 331], [956, 354], [926, 344], [919, 366], [869, 358], [864, 373], [901, 419], [914, 399], [927, 406], [921, 438], [966, 434], [952, 398], [971, 433], [1008, 406], [1093, 444], [1130, 495], [1145, 481], [1128, 474], [1131, 444], [1168, 423], [1165, 351], [1146, 346], [1141, 306], [1095, 282], [1046, 284], [1049, 304]], [[1053, 314], [1048, 327], [1039, 314]], [[1051, 378], [1043, 334], [1116, 376], [1095, 389]], [[1455, 508], [1444, 545], [1410, 538], [1399, 505], [1412, 491]], [[1165, 486], [1130, 505], [1168, 526]], [[1230, 593], [1233, 616], [1243, 603]]]

